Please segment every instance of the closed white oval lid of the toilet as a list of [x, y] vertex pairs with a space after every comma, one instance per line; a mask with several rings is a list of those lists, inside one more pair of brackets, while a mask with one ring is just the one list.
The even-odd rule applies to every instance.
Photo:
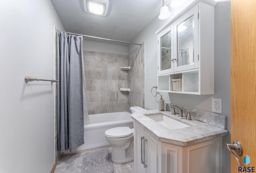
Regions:
[[118, 137], [127, 137], [132, 135], [133, 131], [129, 127], [115, 127], [105, 131], [105, 135], [118, 138]]

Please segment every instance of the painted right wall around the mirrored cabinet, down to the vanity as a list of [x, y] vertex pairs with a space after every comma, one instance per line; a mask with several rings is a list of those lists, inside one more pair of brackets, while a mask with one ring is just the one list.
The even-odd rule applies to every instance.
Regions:
[[[161, 93], [166, 102], [172, 102], [195, 109], [212, 111], [212, 98], [222, 98], [222, 114], [227, 116], [227, 129], [230, 131], [230, 0], [216, 0], [215, 7], [215, 94], [214, 95], [186, 95], [177, 93]], [[178, 12], [190, 4], [192, 0], [186, 0], [186, 4], [179, 8], [170, 8], [172, 19]], [[142, 43], [145, 41], [145, 109], [158, 109], [158, 99], [151, 95], [151, 88], [157, 85], [157, 35], [168, 20], [159, 20], [158, 16], [146, 26], [142, 32], [132, 41]], [[128, 53], [134, 50], [134, 46], [128, 47]], [[230, 134], [223, 138], [223, 143], [230, 143]], [[230, 172], [230, 153], [223, 145], [223, 172]]]

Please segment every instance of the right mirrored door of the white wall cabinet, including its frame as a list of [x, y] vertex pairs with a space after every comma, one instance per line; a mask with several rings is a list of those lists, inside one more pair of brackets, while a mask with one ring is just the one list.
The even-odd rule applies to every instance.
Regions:
[[174, 24], [174, 72], [198, 68], [198, 6]]

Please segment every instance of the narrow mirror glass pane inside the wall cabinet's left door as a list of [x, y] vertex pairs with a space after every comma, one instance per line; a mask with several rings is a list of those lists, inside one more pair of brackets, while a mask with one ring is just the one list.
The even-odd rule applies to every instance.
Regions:
[[172, 68], [171, 64], [171, 31], [161, 37], [161, 70]]

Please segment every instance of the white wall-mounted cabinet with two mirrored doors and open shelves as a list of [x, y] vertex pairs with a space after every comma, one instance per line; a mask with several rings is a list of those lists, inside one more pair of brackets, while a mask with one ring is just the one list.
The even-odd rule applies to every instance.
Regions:
[[[158, 91], [214, 94], [213, 0], [196, 0], [180, 12], [158, 35]], [[173, 88], [181, 79], [182, 88]]]

